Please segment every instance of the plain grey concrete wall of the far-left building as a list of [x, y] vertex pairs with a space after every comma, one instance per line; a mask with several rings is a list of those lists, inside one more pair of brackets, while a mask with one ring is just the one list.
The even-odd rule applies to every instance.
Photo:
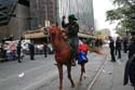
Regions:
[[25, 30], [30, 29], [30, 16], [29, 7], [17, 3], [13, 14], [15, 17], [11, 17], [9, 21], [9, 33], [13, 35], [15, 39], [19, 39]]

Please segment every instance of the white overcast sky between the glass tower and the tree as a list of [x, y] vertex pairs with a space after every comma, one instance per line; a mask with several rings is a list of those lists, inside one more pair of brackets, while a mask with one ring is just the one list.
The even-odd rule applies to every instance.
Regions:
[[98, 29], [109, 28], [112, 31], [116, 26], [114, 24], [110, 25], [109, 22], [106, 22], [106, 11], [114, 8], [111, 1], [112, 0], [93, 0], [94, 18], [96, 20]]

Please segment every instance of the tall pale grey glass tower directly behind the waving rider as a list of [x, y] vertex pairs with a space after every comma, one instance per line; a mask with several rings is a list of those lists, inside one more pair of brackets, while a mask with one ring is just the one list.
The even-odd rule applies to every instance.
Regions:
[[[59, 0], [59, 17], [75, 14], [80, 24], [80, 30], [93, 34], [94, 12], [93, 0]], [[62, 22], [62, 20], [60, 20]]]

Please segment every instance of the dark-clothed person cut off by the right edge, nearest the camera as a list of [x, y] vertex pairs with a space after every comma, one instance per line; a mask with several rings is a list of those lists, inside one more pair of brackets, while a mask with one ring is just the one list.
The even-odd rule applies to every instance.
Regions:
[[124, 73], [124, 85], [131, 81], [135, 90], [135, 31], [132, 31], [132, 42], [129, 47], [129, 61]]

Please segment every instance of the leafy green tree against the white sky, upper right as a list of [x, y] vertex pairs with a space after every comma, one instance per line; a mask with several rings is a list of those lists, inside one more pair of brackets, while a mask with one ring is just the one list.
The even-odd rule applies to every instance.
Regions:
[[135, 18], [135, 0], [112, 0], [112, 2], [118, 8], [106, 12], [107, 21], [110, 21], [110, 23], [119, 21], [119, 28], [117, 28], [118, 30], [133, 29], [133, 27], [135, 26], [133, 21]]

